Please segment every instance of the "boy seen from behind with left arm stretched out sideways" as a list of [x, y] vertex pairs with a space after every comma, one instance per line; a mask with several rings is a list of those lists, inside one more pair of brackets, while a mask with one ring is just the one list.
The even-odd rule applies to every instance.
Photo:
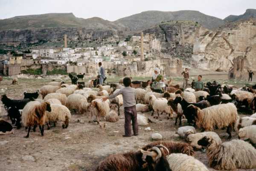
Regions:
[[125, 77], [123, 79], [125, 88], [122, 88], [117, 93], [112, 94], [108, 97], [102, 98], [102, 101], [112, 99], [119, 94], [123, 97], [123, 106], [125, 108], [125, 134], [123, 137], [131, 137], [131, 121], [134, 136], [139, 134], [138, 123], [137, 123], [137, 110], [136, 110], [136, 91], [131, 88], [131, 78]]

